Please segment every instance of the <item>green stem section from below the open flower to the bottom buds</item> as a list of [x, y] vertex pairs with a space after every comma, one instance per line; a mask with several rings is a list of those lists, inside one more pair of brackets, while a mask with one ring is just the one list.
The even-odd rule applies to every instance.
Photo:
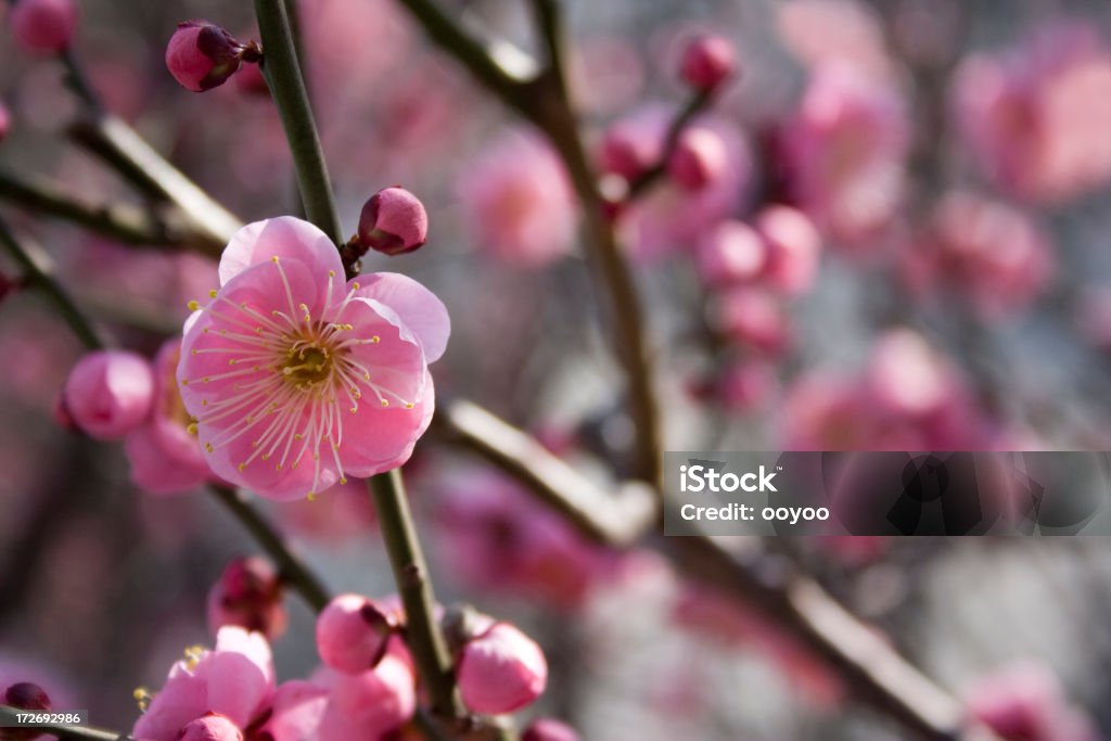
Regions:
[[456, 697], [451, 657], [436, 619], [436, 595], [413, 528], [401, 473], [394, 469], [376, 475], [368, 485], [393, 568], [393, 580], [406, 609], [409, 648], [428, 688], [432, 712], [441, 718], [457, 718], [461, 708]]

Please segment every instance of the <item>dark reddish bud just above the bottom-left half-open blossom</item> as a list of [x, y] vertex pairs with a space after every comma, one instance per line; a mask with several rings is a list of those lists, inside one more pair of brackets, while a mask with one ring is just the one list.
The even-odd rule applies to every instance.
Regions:
[[209, 630], [239, 625], [268, 640], [286, 631], [286, 605], [278, 573], [259, 558], [239, 558], [224, 568], [208, 595]]

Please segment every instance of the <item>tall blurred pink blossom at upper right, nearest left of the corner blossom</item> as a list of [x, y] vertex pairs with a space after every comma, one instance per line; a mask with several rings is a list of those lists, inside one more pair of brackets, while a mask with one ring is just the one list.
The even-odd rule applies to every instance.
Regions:
[[815, 68], [781, 146], [790, 192], [843, 247], [868, 244], [894, 216], [909, 123], [891, 83], [847, 64]]

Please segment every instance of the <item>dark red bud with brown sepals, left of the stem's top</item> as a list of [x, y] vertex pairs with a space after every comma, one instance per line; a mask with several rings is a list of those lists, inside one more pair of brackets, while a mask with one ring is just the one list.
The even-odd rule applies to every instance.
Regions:
[[208, 21], [178, 23], [166, 47], [166, 66], [186, 90], [201, 92], [228, 81], [240, 64], [258, 61], [259, 49]]

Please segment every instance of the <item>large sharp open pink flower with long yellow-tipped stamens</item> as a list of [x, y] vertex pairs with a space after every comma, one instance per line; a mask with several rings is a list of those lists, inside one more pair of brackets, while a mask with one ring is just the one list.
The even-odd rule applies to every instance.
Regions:
[[343, 282], [328, 237], [280, 217], [243, 227], [186, 323], [178, 380], [206, 459], [271, 499], [401, 465], [432, 417], [443, 304], [403, 276]]

